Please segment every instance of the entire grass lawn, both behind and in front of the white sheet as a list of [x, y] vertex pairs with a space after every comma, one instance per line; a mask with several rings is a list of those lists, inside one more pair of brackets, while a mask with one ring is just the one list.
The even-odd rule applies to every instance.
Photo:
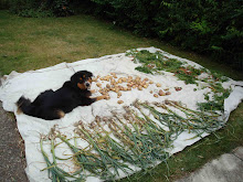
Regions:
[[[122, 53], [130, 49], [155, 46], [180, 57], [194, 61], [209, 69], [234, 79], [243, 73], [191, 52], [184, 52], [166, 43], [139, 38], [114, 28], [112, 23], [88, 15], [68, 18], [32, 19], [19, 18], [0, 11], [0, 72], [25, 72], [75, 62], [83, 58]], [[233, 111], [229, 124], [182, 152], [175, 154], [166, 164], [160, 164], [138, 181], [167, 181], [183, 176], [202, 167], [209, 160], [243, 144], [243, 104]], [[136, 181], [136, 176], [131, 180]], [[127, 181], [124, 179], [123, 181]]]

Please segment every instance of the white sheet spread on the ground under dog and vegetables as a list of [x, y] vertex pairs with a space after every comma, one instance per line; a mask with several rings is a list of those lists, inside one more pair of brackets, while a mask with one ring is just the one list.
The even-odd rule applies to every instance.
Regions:
[[[150, 52], [161, 51], [155, 47], [147, 49]], [[161, 51], [162, 52], [162, 51]], [[188, 62], [190, 65], [196, 67], [201, 67], [199, 64], [191, 61], [180, 58], [167, 54], [168, 57], [178, 58], [183, 62]], [[141, 101], [162, 101], [165, 99], [180, 100], [187, 105], [187, 107], [196, 109], [198, 101], [205, 101], [204, 95], [210, 92], [210, 88], [198, 89], [193, 84], [186, 85], [184, 82], [178, 81], [173, 74], [166, 73], [163, 75], [148, 75], [140, 73], [135, 69], [138, 65], [135, 64], [133, 57], [126, 56], [125, 53], [107, 55], [99, 58], [88, 58], [84, 61], [78, 61], [75, 63], [62, 63], [52, 67], [30, 71], [25, 73], [12, 72], [10, 75], [6, 75], [2, 79], [2, 85], [0, 87], [0, 99], [3, 103], [3, 108], [8, 111], [13, 111], [17, 117], [19, 131], [25, 142], [25, 157], [27, 157], [27, 174], [31, 182], [46, 182], [50, 181], [47, 178], [47, 171], [40, 171], [46, 167], [44, 159], [40, 152], [40, 133], [46, 135], [54, 125], [59, 125], [59, 128], [67, 137], [73, 136], [73, 124], [83, 120], [84, 122], [91, 122], [94, 120], [95, 116], [110, 116], [110, 110], [122, 111], [124, 105], [130, 105], [135, 99]], [[133, 89], [131, 92], [124, 92], [120, 98], [116, 97], [115, 93], [110, 93], [109, 100], [99, 100], [94, 103], [91, 106], [78, 107], [74, 109], [71, 114], [67, 114], [64, 118], [60, 120], [46, 121], [43, 119], [30, 117], [27, 115], [17, 115], [15, 101], [24, 95], [25, 97], [33, 100], [40, 93], [46, 89], [57, 89], [62, 84], [70, 79], [70, 77], [77, 71], [86, 69], [93, 72], [94, 75], [105, 76], [109, 73], [116, 73], [118, 77], [122, 76], [140, 76], [141, 78], [148, 77], [155, 83], [160, 83], [161, 88], [169, 88], [171, 95], [155, 98], [149, 90], [159, 90], [160, 88], [155, 85], [150, 85], [147, 89], [142, 92]], [[103, 85], [106, 85], [104, 82]], [[230, 79], [223, 84], [225, 88], [231, 87], [232, 93], [224, 103], [224, 119], [228, 120], [230, 113], [234, 110], [237, 105], [243, 99], [243, 82], [234, 82]], [[237, 86], [235, 86], [237, 85]], [[176, 92], [175, 86], [182, 87], [182, 90]], [[97, 89], [96, 85], [92, 85], [92, 89]], [[117, 100], [124, 100], [123, 105], [118, 105]], [[207, 136], [208, 133], [204, 133]], [[170, 149], [169, 152], [176, 153], [183, 150], [187, 146], [194, 143], [200, 140], [196, 138], [192, 140], [187, 140], [192, 138], [192, 133], [183, 132], [175, 141], [175, 148]], [[85, 144], [80, 142], [80, 146]], [[45, 151], [50, 151], [50, 144], [44, 146]], [[68, 153], [66, 148], [60, 148], [60, 157], [63, 156], [63, 152]], [[49, 153], [50, 154], [50, 153]], [[65, 157], [64, 157], [65, 158]], [[68, 168], [67, 168], [68, 170]], [[99, 181], [97, 178], [88, 178], [87, 181]]]

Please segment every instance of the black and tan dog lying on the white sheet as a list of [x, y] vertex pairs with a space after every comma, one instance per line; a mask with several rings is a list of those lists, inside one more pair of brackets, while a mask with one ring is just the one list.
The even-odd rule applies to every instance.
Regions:
[[70, 81], [65, 82], [57, 90], [45, 90], [41, 93], [33, 103], [20, 97], [17, 101], [18, 114], [45, 120], [60, 119], [78, 106], [89, 106], [94, 101], [105, 99], [106, 95], [92, 98], [95, 90], [89, 90], [93, 74], [87, 71], [75, 73]]

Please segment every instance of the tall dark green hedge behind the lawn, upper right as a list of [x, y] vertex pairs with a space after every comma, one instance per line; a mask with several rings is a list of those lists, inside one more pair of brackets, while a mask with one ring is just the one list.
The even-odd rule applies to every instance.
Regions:
[[[88, 3], [89, 2], [89, 3]], [[243, 68], [239, 0], [85, 0], [86, 12]]]

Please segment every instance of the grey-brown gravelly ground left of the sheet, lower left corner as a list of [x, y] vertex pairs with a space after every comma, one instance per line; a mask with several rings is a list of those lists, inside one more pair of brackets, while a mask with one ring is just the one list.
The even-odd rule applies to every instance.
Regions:
[[0, 181], [28, 182], [24, 142], [14, 117], [4, 111], [0, 101]]

